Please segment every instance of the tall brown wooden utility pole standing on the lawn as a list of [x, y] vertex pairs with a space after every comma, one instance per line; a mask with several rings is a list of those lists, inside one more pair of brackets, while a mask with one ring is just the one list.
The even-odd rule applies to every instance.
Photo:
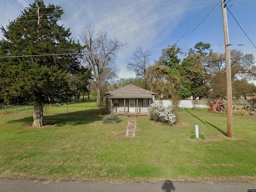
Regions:
[[231, 67], [230, 67], [230, 44], [228, 36], [228, 21], [226, 12], [226, 0], [221, 0], [224, 40], [225, 40], [225, 57], [226, 57], [226, 81], [227, 81], [227, 136], [232, 137], [232, 86], [231, 86]]

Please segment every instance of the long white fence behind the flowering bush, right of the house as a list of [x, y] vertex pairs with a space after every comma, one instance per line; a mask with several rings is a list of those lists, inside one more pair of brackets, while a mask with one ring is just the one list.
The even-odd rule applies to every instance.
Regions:
[[[158, 102], [159, 100], [155, 100], [154, 102]], [[161, 104], [164, 106], [172, 105], [171, 100], [160, 100]], [[210, 103], [207, 100], [180, 100], [179, 107], [182, 108], [210, 108]]]

